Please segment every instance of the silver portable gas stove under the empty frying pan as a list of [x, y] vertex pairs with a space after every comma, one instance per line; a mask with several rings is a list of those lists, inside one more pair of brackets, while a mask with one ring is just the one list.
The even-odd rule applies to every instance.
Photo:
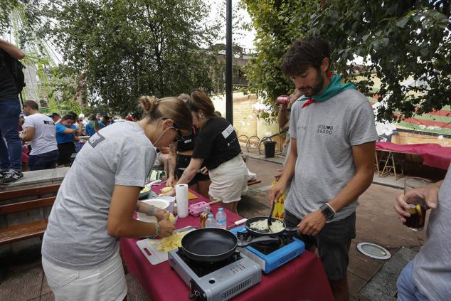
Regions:
[[226, 301], [262, 280], [260, 266], [240, 252], [220, 263], [196, 263], [181, 249], [169, 251], [168, 258], [190, 288], [190, 299]]

